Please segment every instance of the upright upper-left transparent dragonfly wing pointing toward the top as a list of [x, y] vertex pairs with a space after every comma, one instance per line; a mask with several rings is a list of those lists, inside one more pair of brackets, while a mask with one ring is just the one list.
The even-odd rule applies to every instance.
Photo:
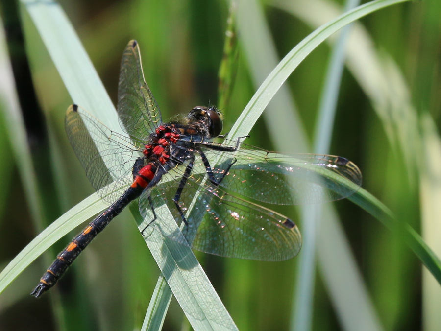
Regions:
[[162, 121], [159, 106], [144, 79], [136, 40], [128, 43], [121, 59], [117, 109], [123, 129], [140, 141], [147, 141]]

